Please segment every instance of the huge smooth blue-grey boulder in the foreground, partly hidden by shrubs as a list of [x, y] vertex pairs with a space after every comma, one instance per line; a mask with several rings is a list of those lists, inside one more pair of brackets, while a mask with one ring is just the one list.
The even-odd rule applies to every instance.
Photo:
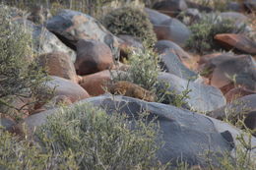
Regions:
[[[107, 113], [126, 113], [130, 118], [137, 118], [138, 113], [147, 110], [149, 119], [157, 116], [160, 122], [159, 141], [164, 142], [158, 151], [158, 158], [162, 163], [171, 161], [173, 165], [176, 160], [186, 161], [189, 165], [205, 165], [204, 153], [209, 149], [216, 155], [222, 151], [230, 151], [237, 142], [236, 137], [240, 134], [235, 128], [209, 118], [202, 114], [178, 109], [171, 105], [125, 97], [102, 95], [81, 101], [90, 102], [96, 106], [106, 109]], [[32, 130], [34, 127], [45, 124], [46, 117], [54, 114], [57, 110], [49, 110], [34, 114], [25, 120]], [[252, 138], [255, 145], [256, 139]], [[252, 152], [255, 156], [255, 151]], [[213, 160], [216, 163], [215, 159]]]

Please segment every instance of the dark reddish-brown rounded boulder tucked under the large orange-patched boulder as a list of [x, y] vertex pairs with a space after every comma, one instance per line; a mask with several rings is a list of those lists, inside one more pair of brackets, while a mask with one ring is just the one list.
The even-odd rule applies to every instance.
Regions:
[[89, 75], [107, 70], [113, 65], [110, 48], [96, 40], [82, 39], [77, 43], [75, 68], [79, 75]]

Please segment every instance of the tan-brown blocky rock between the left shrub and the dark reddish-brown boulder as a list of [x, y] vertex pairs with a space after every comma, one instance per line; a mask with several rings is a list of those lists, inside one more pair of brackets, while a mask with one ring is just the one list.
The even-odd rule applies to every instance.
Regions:
[[77, 74], [70, 56], [63, 52], [52, 52], [38, 56], [38, 62], [48, 74], [77, 83]]

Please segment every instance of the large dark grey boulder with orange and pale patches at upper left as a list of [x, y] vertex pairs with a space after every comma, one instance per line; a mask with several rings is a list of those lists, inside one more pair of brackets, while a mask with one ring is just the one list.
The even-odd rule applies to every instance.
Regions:
[[56, 16], [47, 21], [46, 26], [72, 49], [80, 39], [95, 39], [105, 43], [118, 58], [118, 40], [96, 19], [81, 12], [61, 10]]

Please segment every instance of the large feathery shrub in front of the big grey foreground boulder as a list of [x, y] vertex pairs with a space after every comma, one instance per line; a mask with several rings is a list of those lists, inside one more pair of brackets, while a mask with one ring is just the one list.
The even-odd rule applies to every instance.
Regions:
[[[71, 150], [79, 169], [151, 169], [156, 162], [159, 126], [145, 114], [138, 120], [97, 109], [88, 103], [63, 108], [39, 128], [39, 139], [47, 135], [56, 153]], [[131, 130], [133, 126], [133, 130]]]

